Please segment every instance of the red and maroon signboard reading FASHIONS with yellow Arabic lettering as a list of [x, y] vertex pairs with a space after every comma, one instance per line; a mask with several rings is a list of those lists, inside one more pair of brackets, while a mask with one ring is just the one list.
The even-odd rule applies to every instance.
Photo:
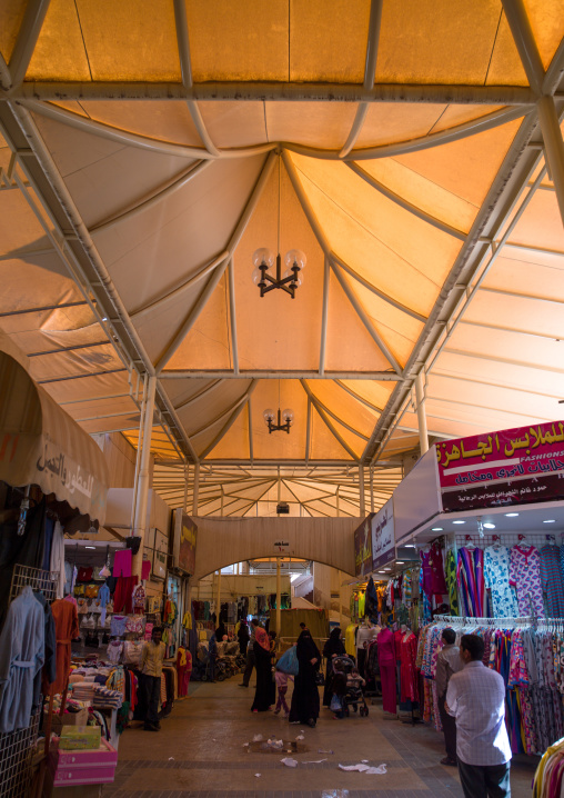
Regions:
[[564, 422], [436, 445], [445, 512], [564, 498]]

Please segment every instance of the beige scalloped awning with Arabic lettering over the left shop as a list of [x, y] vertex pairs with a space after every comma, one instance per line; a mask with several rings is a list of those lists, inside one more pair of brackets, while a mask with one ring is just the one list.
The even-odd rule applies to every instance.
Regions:
[[92, 438], [0, 351], [0, 479], [39, 485], [103, 523], [108, 469]]

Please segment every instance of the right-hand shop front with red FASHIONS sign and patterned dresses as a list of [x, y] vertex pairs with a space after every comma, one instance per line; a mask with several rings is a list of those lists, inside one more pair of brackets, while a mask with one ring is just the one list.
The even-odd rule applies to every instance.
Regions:
[[514, 754], [564, 735], [564, 671], [551, 655], [564, 618], [564, 423], [439, 443], [393, 496], [399, 542], [420, 558], [423, 718], [441, 728], [441, 634], [477, 634], [504, 677]]

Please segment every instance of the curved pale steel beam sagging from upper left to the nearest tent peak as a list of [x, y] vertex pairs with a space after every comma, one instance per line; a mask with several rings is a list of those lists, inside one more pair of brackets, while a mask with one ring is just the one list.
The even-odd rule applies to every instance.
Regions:
[[[201, 158], [209, 159], [215, 158], [202, 147], [190, 147], [187, 144], [177, 144], [172, 141], [163, 141], [162, 139], [153, 139], [150, 136], [141, 136], [141, 133], [133, 133], [121, 128], [115, 128], [112, 124], [105, 122], [98, 122], [94, 119], [81, 117], [78, 113], [52, 106], [50, 103], [37, 102], [36, 100], [26, 100], [21, 103], [28, 110], [33, 113], [39, 113], [48, 119], [53, 119], [56, 122], [68, 124], [77, 130], [82, 130], [85, 133], [94, 133], [101, 136], [109, 141], [115, 141], [120, 144], [139, 147], [142, 150], [149, 150], [151, 152], [160, 152], [165, 156], [177, 156], [179, 158]], [[222, 158], [249, 158], [252, 156], [261, 154], [263, 152], [270, 152], [276, 147], [275, 143], [256, 144], [254, 147], [239, 147], [233, 149], [221, 150]]]

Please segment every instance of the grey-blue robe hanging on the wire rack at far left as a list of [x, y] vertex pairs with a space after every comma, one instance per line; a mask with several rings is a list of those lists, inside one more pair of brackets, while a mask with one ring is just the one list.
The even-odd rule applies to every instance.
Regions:
[[26, 729], [44, 661], [44, 610], [26, 586], [0, 635], [0, 731]]

